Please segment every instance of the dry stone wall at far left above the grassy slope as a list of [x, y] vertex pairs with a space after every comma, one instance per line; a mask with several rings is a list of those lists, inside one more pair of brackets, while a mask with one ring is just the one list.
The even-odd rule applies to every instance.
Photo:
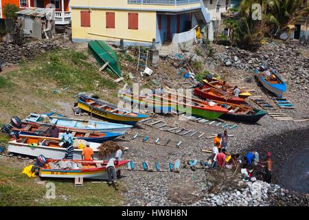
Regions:
[[23, 58], [30, 60], [36, 54], [44, 54], [47, 51], [55, 50], [62, 45], [62, 36], [56, 36], [54, 39], [44, 39], [42, 41], [32, 41], [23, 45], [0, 42], [0, 58], [3, 67], [16, 65]]

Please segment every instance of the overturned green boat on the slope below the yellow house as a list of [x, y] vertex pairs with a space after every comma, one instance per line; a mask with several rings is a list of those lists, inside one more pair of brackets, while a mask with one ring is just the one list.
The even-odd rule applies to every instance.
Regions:
[[122, 76], [116, 53], [104, 41], [90, 41], [88, 49], [101, 66], [108, 63], [106, 65], [108, 69], [117, 74], [117, 76]]

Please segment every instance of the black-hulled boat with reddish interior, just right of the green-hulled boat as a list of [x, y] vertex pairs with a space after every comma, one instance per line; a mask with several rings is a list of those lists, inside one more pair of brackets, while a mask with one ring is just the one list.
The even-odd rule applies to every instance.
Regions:
[[227, 113], [220, 116], [220, 118], [223, 120], [230, 120], [233, 122], [256, 123], [264, 115], [267, 114], [266, 111], [245, 106], [244, 104], [232, 104], [219, 101], [216, 101], [216, 103], [220, 104], [221, 107], [228, 110]]

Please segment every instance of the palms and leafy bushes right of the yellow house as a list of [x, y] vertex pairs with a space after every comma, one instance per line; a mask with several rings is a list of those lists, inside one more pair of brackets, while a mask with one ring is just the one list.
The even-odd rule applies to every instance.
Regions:
[[[262, 14], [259, 18], [258, 8], [261, 5]], [[303, 0], [242, 0], [238, 6], [239, 21], [227, 20], [225, 26], [233, 32], [231, 44], [239, 43], [245, 47], [260, 45], [264, 36], [271, 39], [279, 38], [283, 32], [291, 34], [290, 28], [301, 17], [308, 17], [308, 1]]]

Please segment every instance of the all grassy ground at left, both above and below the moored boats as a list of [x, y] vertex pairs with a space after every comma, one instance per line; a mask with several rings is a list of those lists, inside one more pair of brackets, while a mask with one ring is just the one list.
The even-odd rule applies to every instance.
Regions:
[[[113, 82], [115, 76], [98, 72], [87, 52], [58, 50], [37, 56], [33, 62], [22, 63], [16, 70], [0, 75], [0, 125], [13, 115], [24, 118], [30, 112], [71, 112], [75, 96], [90, 91], [115, 103], [122, 85]], [[63, 88], [69, 89], [63, 91]], [[57, 89], [60, 93], [56, 94]], [[62, 104], [64, 103], [64, 105]], [[7, 136], [0, 135], [0, 142]], [[73, 182], [56, 181], [56, 199], [44, 198], [46, 189], [22, 175], [22, 166], [12, 159], [0, 158], [0, 206], [119, 206], [120, 192], [106, 184], [84, 183], [75, 188]], [[64, 199], [66, 198], [66, 199]]]

